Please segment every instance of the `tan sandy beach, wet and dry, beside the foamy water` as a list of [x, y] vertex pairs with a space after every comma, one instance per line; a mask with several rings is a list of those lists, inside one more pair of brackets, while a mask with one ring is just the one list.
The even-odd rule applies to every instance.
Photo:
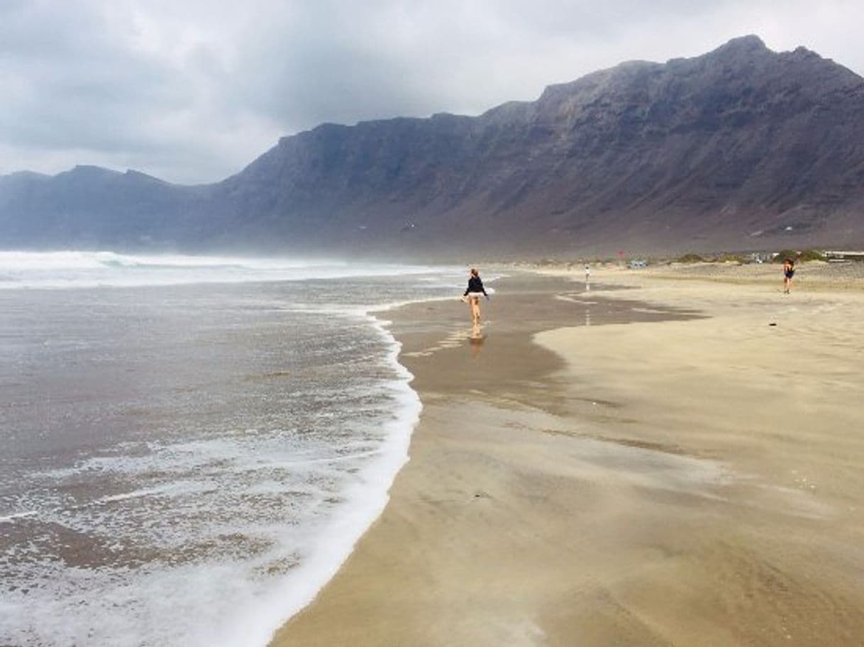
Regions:
[[861, 270], [546, 269], [480, 333], [389, 313], [410, 462], [272, 644], [864, 644]]

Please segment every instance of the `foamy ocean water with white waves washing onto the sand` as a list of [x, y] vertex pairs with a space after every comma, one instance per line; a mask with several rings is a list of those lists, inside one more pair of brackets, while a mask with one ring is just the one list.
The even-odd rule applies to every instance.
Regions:
[[0, 644], [266, 644], [407, 458], [421, 405], [379, 310], [464, 281], [0, 252]]

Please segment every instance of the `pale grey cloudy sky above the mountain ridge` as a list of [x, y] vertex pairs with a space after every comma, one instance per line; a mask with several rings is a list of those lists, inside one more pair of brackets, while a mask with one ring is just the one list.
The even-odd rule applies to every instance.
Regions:
[[739, 35], [864, 74], [862, 0], [0, 0], [0, 174], [236, 173], [322, 122], [479, 114]]

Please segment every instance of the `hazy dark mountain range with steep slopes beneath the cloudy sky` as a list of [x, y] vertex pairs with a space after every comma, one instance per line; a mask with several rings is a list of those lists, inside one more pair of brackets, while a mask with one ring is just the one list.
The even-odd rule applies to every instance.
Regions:
[[861, 245], [862, 114], [864, 79], [745, 36], [479, 117], [322, 124], [212, 185], [92, 167], [0, 176], [0, 245], [392, 257]]

